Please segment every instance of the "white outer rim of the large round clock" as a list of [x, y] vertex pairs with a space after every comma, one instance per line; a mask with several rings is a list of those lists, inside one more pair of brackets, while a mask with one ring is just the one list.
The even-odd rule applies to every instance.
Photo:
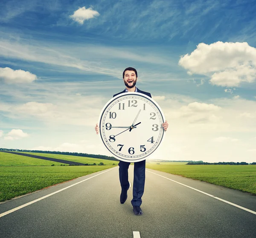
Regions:
[[[157, 106], [157, 108], [160, 110], [160, 113], [161, 113], [161, 115], [163, 116], [163, 122], [166, 121], [165, 116], [164, 116], [164, 114], [163, 114], [163, 110], [161, 109], [161, 107], [159, 106], [159, 104], [158, 104], [154, 99], [152, 99], [151, 97], [149, 97], [148, 95], [146, 95], [146, 94], [144, 94], [144, 93], [125, 92], [125, 93], [120, 93], [120, 94], [114, 96], [113, 98], [111, 98], [110, 100], [108, 100], [108, 102], [107, 102], [107, 103], [104, 105], [104, 107], [102, 108], [101, 113], [100, 113], [100, 115], [99, 115], [99, 119], [98, 119], [98, 125], [99, 125], [99, 130], [100, 130], [100, 131], [101, 131], [100, 122], [101, 122], [102, 114], [104, 113], [106, 107], [108, 107], [108, 105], [109, 105], [111, 102], [113, 102], [115, 99], [117, 99], [117, 98], [119, 98], [119, 97], [121, 97], [121, 96], [128, 96], [128, 95], [140, 95], [140, 96], [143, 96], [143, 97], [147, 98], [147, 99], [150, 100], [151, 102], [153, 102], [153, 103]], [[159, 150], [159, 148], [162, 147], [163, 141], [164, 141], [164, 139], [165, 139], [165, 132], [166, 132], [166, 131], [163, 130], [163, 137], [162, 137], [162, 139], [161, 139], [161, 143], [157, 146], [157, 148], [156, 148], [154, 151], [156, 151], [157, 149]], [[101, 142], [103, 142], [105, 150], [108, 151], [108, 153], [111, 153], [111, 154], [112, 154], [112, 157], [116, 158], [117, 160], [121, 160], [121, 161], [123, 161], [123, 162], [129, 162], [129, 163], [136, 163], [136, 162], [140, 162], [140, 161], [143, 161], [143, 160], [148, 160], [148, 159], [150, 159], [151, 155], [154, 153], [154, 151], [153, 151], [151, 154], [149, 154], [149, 155], [147, 155], [146, 157], [143, 157], [143, 158], [141, 158], [141, 159], [138, 159], [138, 160], [125, 160], [125, 159], [123, 159], [123, 158], [120, 158], [120, 157], [116, 156], [116, 154], [114, 154], [112, 151], [110, 151], [110, 150], [107, 148], [107, 146], [105, 145], [105, 142], [103, 141], [103, 138], [102, 138], [101, 133], [99, 133], [99, 134], [100, 134], [100, 140], [101, 140]]]

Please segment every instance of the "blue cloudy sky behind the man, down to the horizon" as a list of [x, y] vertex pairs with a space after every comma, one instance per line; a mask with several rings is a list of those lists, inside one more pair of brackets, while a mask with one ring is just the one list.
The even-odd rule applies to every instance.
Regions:
[[0, 147], [108, 154], [102, 107], [138, 71], [166, 160], [256, 158], [252, 1], [1, 1]]

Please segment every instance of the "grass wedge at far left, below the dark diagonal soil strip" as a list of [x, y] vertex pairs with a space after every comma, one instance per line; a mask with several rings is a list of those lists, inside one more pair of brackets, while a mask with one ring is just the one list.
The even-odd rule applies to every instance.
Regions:
[[[51, 166], [62, 163], [0, 152], [0, 166]], [[64, 165], [64, 164], [63, 164]], [[68, 164], [65, 164], [68, 166]]]

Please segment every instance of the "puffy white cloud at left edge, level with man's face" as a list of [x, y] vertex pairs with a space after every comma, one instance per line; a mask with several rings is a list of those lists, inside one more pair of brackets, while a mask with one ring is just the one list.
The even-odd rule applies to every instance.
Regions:
[[0, 68], [0, 78], [8, 84], [31, 83], [37, 79], [35, 74], [24, 70], [13, 70], [9, 67]]

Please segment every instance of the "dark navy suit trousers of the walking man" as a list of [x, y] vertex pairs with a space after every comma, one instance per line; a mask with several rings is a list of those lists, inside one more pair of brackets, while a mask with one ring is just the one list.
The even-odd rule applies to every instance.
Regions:
[[[121, 161], [119, 162], [119, 179], [122, 189], [128, 190], [130, 187], [128, 181], [128, 168], [131, 163]], [[140, 206], [142, 203], [142, 195], [145, 186], [145, 164], [146, 160], [134, 163], [134, 183], [133, 183], [133, 199], [132, 206]]]

